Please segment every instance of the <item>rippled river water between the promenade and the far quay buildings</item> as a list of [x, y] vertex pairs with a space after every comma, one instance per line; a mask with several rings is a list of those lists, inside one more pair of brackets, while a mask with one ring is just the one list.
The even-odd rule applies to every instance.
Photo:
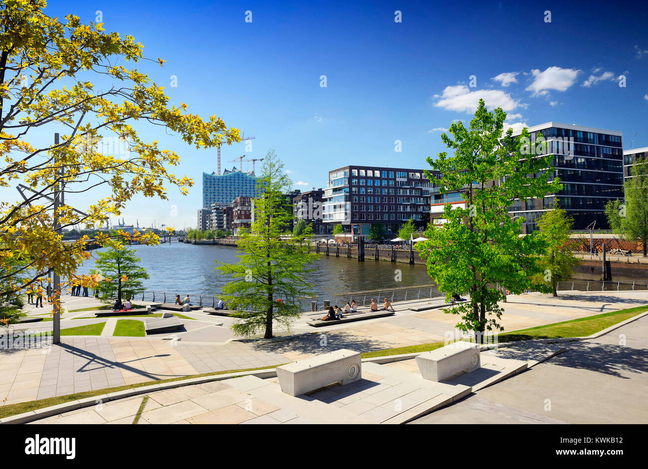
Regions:
[[[131, 248], [141, 259], [139, 265], [150, 275], [150, 279], [143, 281], [146, 290], [178, 293], [182, 296], [187, 293], [218, 296], [228, 278], [215, 270], [214, 261], [238, 262], [236, 248], [226, 246], [165, 243]], [[100, 249], [93, 250], [93, 257], [96, 258], [99, 251]], [[343, 256], [342, 249], [340, 256]], [[95, 261], [88, 259], [78, 269], [78, 273], [87, 274], [91, 268], [95, 268]], [[314, 284], [312, 291], [320, 298], [334, 298], [345, 292], [387, 290], [434, 283], [424, 265], [373, 259], [358, 262], [358, 259], [333, 255], [316, 259], [312, 268], [315, 269], [314, 272], [309, 272], [306, 278]], [[395, 280], [396, 269], [401, 271], [401, 281]]]

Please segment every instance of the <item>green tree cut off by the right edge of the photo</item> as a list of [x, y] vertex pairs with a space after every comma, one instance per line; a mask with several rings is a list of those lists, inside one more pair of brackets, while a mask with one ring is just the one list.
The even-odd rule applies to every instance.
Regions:
[[643, 257], [648, 248], [648, 160], [637, 158], [632, 166], [632, 177], [625, 180], [625, 201], [610, 200], [605, 215], [614, 234], [628, 241], [641, 241]]

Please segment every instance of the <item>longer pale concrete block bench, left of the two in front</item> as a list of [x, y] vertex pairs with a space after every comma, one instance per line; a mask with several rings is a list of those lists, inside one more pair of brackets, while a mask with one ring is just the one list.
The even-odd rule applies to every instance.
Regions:
[[281, 391], [297, 396], [340, 382], [342, 386], [362, 377], [360, 352], [340, 349], [277, 367]]

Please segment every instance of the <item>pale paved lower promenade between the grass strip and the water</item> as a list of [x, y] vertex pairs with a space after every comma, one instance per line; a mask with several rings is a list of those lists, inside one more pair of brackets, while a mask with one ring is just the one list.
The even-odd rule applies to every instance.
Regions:
[[[458, 316], [444, 314], [443, 309], [408, 309], [426, 302], [434, 303], [421, 300], [395, 304], [395, 316], [318, 329], [306, 325], [310, 317], [305, 314], [293, 335], [274, 340], [235, 340], [228, 327], [231, 318], [191, 312], [185, 314], [194, 320], [183, 320], [185, 329], [175, 334], [145, 338], [63, 336], [63, 343], [51, 349], [1, 349], [0, 400], [6, 398], [5, 403], [12, 404], [176, 376], [279, 365], [332, 349], [365, 352], [426, 344], [454, 334]], [[94, 298], [64, 298], [67, 309], [97, 304]], [[645, 304], [647, 292], [564, 292], [559, 298], [523, 294], [511, 296], [503, 304], [502, 323], [506, 331], [512, 331]], [[45, 309], [31, 314], [45, 314]], [[75, 319], [89, 316], [92, 312], [67, 313], [62, 328], [106, 322], [106, 318]], [[47, 331], [51, 327], [51, 322], [23, 324], [15, 331]]]

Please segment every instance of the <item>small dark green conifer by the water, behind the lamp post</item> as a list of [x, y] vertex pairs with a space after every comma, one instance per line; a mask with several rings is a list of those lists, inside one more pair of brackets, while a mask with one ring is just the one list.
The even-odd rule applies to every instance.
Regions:
[[111, 241], [108, 249], [98, 253], [95, 263], [103, 278], [98, 283], [99, 296], [104, 301], [114, 298], [133, 298], [145, 290], [142, 280], [148, 279], [145, 268], [137, 265], [140, 259], [135, 250], [127, 248], [121, 241]]

